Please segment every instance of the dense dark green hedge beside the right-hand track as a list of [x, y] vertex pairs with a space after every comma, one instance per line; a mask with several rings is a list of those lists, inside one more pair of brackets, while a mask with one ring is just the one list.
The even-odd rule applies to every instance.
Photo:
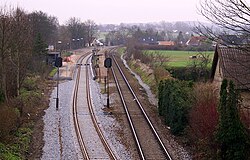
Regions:
[[174, 135], [180, 135], [188, 124], [193, 84], [179, 80], [164, 80], [158, 89], [158, 111]]

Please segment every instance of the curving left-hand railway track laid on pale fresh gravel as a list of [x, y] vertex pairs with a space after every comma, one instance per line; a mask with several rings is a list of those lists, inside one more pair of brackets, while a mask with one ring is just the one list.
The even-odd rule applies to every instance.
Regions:
[[97, 123], [93, 110], [89, 86], [90, 57], [90, 53], [83, 55], [78, 61], [76, 71], [72, 110], [77, 140], [84, 159], [116, 160], [115, 154]]

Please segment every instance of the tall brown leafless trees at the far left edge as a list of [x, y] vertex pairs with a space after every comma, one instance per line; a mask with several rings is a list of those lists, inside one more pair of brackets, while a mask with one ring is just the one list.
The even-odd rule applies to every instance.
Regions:
[[19, 95], [28, 72], [33, 38], [28, 15], [20, 8], [0, 10], [0, 88], [5, 100]]

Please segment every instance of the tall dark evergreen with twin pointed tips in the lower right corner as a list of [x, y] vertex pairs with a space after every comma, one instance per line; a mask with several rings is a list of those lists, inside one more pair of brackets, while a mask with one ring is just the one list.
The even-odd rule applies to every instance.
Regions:
[[247, 158], [248, 136], [239, 116], [239, 94], [232, 81], [225, 79], [221, 85], [218, 106], [219, 126], [216, 140], [219, 143], [219, 158], [243, 160]]

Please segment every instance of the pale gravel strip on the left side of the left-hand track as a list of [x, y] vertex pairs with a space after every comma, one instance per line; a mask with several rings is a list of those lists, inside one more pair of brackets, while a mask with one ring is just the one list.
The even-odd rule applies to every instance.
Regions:
[[74, 81], [59, 84], [59, 109], [56, 110], [56, 88], [45, 111], [42, 159], [78, 159], [71, 126], [70, 113]]

